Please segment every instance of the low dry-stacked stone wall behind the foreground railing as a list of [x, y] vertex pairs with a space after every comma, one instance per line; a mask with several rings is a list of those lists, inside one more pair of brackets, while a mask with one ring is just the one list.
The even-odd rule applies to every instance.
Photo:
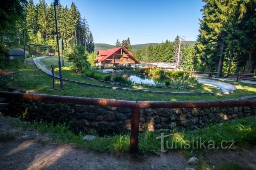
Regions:
[[[47, 122], [70, 124], [77, 132], [119, 132], [131, 127], [131, 109], [76, 105], [54, 102], [9, 101], [12, 113], [19, 110], [25, 120], [43, 119]], [[27, 108], [27, 109], [26, 109]], [[140, 109], [140, 131], [169, 131], [178, 128], [196, 129], [204, 124], [232, 120], [256, 114], [256, 107], [212, 107]]]

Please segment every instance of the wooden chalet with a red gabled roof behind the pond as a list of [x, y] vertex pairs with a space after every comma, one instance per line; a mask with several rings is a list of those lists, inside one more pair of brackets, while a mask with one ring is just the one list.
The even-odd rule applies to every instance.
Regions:
[[111, 67], [115, 65], [127, 65], [140, 63], [134, 55], [123, 47], [111, 48], [108, 50], [98, 50], [94, 59], [96, 66]]

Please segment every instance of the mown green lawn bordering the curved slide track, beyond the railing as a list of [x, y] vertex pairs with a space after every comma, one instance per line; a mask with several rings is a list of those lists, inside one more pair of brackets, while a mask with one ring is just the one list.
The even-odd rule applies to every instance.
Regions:
[[[56, 68], [58, 67], [58, 57], [55, 57], [49, 61], [42, 60], [46, 65], [53, 64]], [[65, 59], [65, 65], [70, 66], [70, 64]], [[18, 72], [13, 76], [12, 79], [8, 79], [8, 85], [12, 87], [17, 87], [20, 89], [26, 89], [33, 91], [39, 94], [54, 94], [54, 95], [64, 95], [64, 96], [79, 96], [79, 97], [90, 97], [90, 98], [111, 98], [119, 100], [133, 100], [133, 101], [178, 101], [178, 100], [222, 100], [230, 98], [240, 98], [243, 96], [256, 95], [255, 85], [240, 83], [240, 82], [231, 82], [225, 81], [227, 83], [236, 85], [238, 88], [237, 91], [231, 94], [220, 94], [215, 96], [178, 96], [178, 95], [166, 95], [166, 94], [150, 94], [150, 93], [141, 93], [141, 92], [127, 92], [114, 89], [105, 89], [100, 87], [78, 85], [74, 83], [65, 82], [65, 88], [60, 89], [59, 81], [56, 81], [56, 88], [58, 90], [52, 89], [52, 78], [42, 71], [38, 70], [36, 66], [28, 62], [27, 68], [22, 68], [22, 63], [18, 67]], [[64, 78], [81, 81], [85, 83], [96, 83], [100, 85], [106, 85], [98, 81], [87, 80], [83, 75], [76, 74], [70, 70], [69, 67], [63, 67], [63, 76]], [[58, 70], [56, 69], [56, 74]], [[202, 87], [202, 88], [200, 88]], [[147, 89], [147, 88], [144, 88]], [[148, 88], [149, 90], [154, 90], [154, 88]], [[216, 87], [210, 87], [201, 85], [195, 89], [188, 89], [188, 91], [180, 90], [178, 92], [196, 92], [196, 89], [204, 89], [203, 92], [215, 92]], [[157, 90], [169, 90], [169, 89], [160, 89]], [[194, 91], [193, 91], [194, 90]], [[177, 91], [172, 91], [177, 92]]]

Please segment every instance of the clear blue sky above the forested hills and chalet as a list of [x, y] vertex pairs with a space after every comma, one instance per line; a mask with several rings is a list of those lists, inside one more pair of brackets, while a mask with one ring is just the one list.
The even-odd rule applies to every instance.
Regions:
[[[45, 0], [49, 5], [54, 0]], [[39, 0], [34, 0], [38, 3]], [[72, 0], [60, 0], [70, 7]], [[173, 41], [177, 35], [196, 41], [201, 0], [73, 0], [87, 19], [94, 43], [112, 44], [130, 38], [131, 44]], [[58, 13], [58, 11], [57, 11]], [[57, 14], [58, 15], [58, 14]]]

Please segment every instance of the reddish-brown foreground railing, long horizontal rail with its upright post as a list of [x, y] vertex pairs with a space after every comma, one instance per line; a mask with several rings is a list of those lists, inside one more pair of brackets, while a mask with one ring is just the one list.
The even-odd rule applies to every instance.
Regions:
[[212, 100], [212, 101], [127, 101], [102, 98], [82, 98], [72, 96], [57, 96], [47, 94], [27, 94], [16, 92], [0, 92], [1, 98], [16, 98], [24, 100], [35, 100], [44, 102], [65, 102], [80, 105], [99, 105], [112, 107], [132, 108], [131, 114], [131, 137], [130, 153], [138, 151], [138, 134], [140, 124], [140, 109], [143, 108], [192, 108], [192, 107], [239, 107], [239, 106], [256, 106], [256, 100]]

